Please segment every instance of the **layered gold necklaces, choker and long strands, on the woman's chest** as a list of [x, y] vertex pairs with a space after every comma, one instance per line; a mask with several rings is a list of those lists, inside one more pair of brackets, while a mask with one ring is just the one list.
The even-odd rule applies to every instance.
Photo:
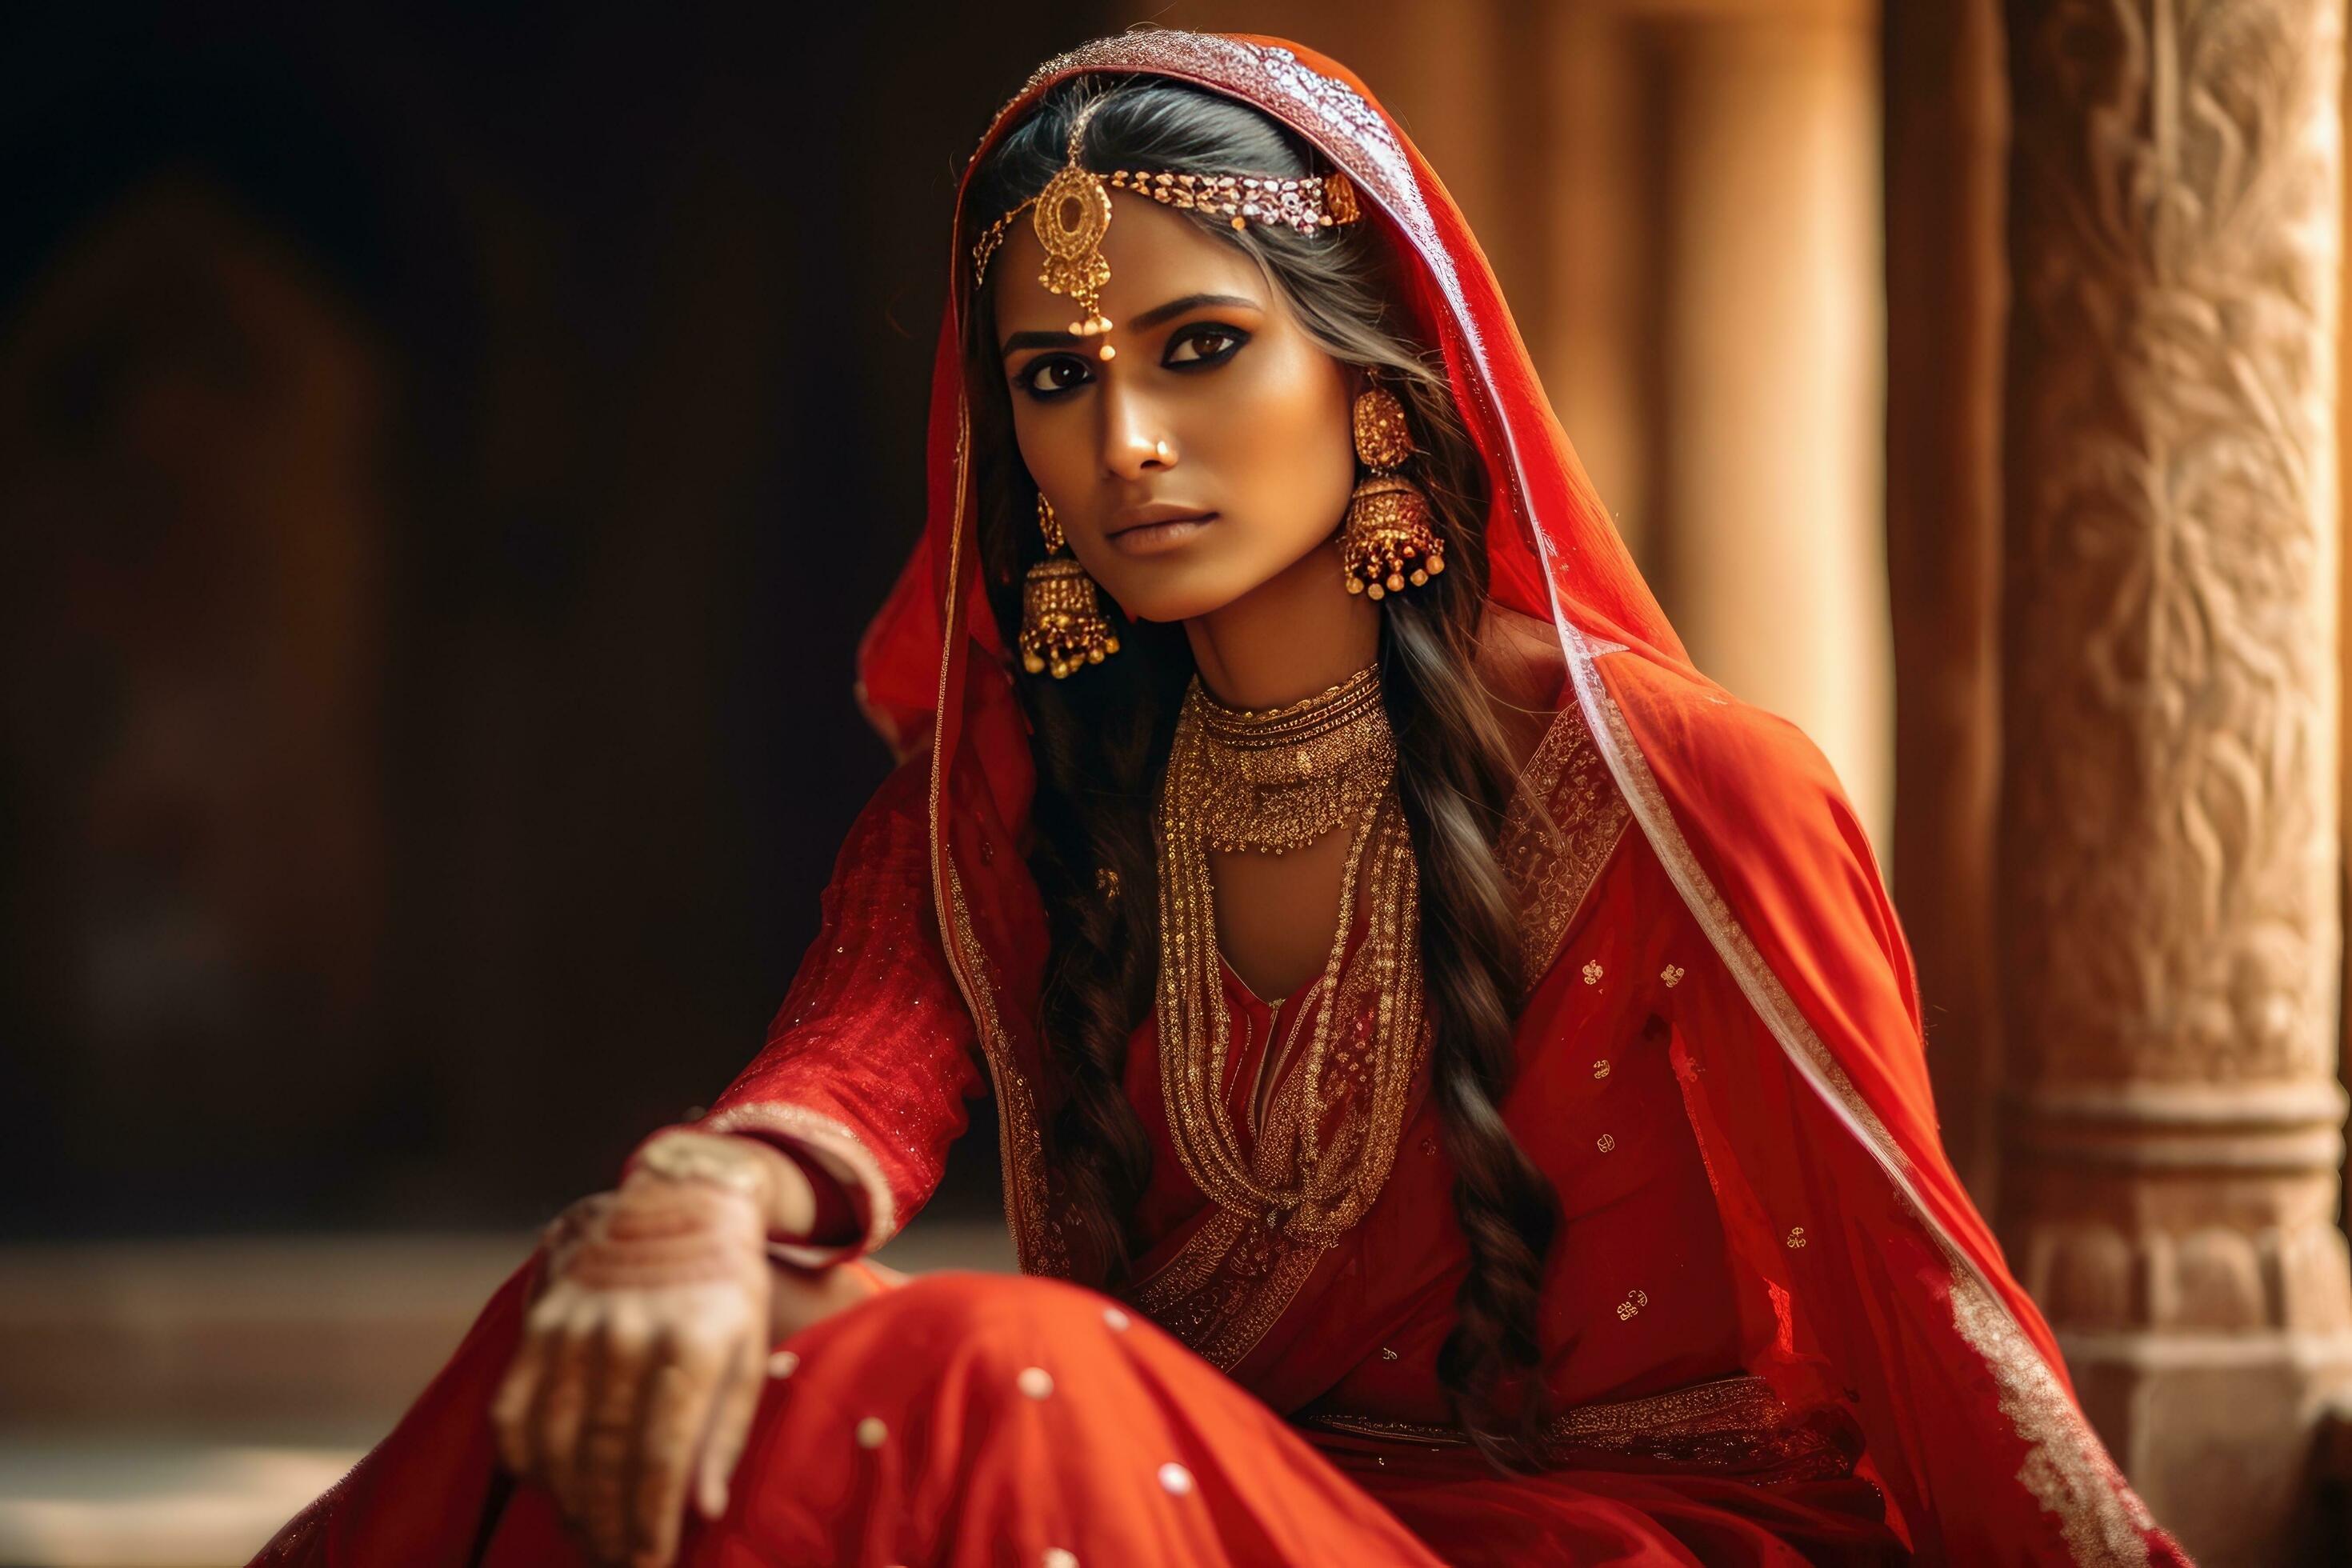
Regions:
[[[1160, 788], [1157, 1018], [1169, 1135], [1218, 1208], [1287, 1244], [1336, 1241], [1381, 1194], [1428, 1051], [1418, 884], [1395, 773], [1378, 668], [1263, 712], [1225, 708], [1195, 677]], [[1305, 1060], [1244, 1150], [1223, 1091], [1232, 1039], [1209, 851], [1279, 856], [1341, 825], [1350, 827], [1348, 865], [1322, 1011]], [[1359, 875], [1369, 924], [1348, 964]], [[1270, 1053], [1272, 1041], [1265, 1072], [1277, 1065]], [[1240, 1239], [1232, 1225], [1216, 1229]]]

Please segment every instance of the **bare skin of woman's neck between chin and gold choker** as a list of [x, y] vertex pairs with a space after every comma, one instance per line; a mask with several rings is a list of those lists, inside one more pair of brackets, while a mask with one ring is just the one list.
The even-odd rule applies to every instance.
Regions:
[[1183, 630], [1200, 682], [1228, 708], [1298, 703], [1381, 656], [1381, 607], [1345, 590], [1336, 545], [1308, 550]]

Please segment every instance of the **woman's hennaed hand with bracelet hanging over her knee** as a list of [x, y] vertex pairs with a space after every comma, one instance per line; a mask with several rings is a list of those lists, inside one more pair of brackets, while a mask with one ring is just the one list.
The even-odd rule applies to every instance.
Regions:
[[767, 1237], [776, 1215], [804, 1227], [814, 1213], [807, 1178], [776, 1150], [670, 1138], [696, 1140], [682, 1145], [689, 1159], [649, 1150], [616, 1194], [550, 1229], [550, 1284], [492, 1403], [506, 1467], [555, 1493], [600, 1563], [668, 1563], [689, 1486], [706, 1516], [727, 1512], [767, 1382]]

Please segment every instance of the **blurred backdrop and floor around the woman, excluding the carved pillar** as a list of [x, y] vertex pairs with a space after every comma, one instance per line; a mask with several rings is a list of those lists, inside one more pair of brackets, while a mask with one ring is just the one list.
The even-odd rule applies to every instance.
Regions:
[[[1698, 663], [1863, 809], [1990, 1206], [1994, 7], [833, 12], [5, 24], [0, 1563], [242, 1561], [750, 1058], [887, 769], [957, 169], [1138, 21], [1348, 61], [1449, 181]], [[993, 1138], [894, 1262], [1009, 1267]]]

